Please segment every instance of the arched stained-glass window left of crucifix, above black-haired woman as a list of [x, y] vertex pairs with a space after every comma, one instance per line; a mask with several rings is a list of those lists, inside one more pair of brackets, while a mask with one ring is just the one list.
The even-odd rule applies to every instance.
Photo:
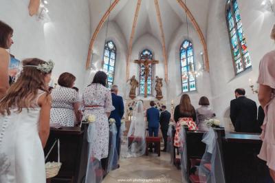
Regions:
[[108, 88], [111, 88], [113, 85], [113, 76], [115, 74], [115, 57], [116, 57], [116, 48], [113, 41], [108, 41], [104, 46], [104, 65], [103, 71], [108, 75]]

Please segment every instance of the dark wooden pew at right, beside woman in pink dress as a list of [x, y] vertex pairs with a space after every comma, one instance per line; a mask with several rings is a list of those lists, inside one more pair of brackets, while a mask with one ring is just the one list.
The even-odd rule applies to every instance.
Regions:
[[262, 141], [259, 133], [225, 133], [223, 159], [227, 183], [272, 182], [266, 162], [257, 155]]

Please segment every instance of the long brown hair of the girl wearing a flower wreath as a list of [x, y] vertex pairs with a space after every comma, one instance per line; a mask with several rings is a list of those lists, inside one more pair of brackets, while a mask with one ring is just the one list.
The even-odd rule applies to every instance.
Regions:
[[45, 83], [45, 76], [47, 73], [40, 72], [36, 67], [24, 67], [35, 66], [46, 63], [39, 58], [28, 58], [23, 61], [23, 71], [21, 72], [17, 82], [12, 84], [8, 89], [7, 94], [0, 101], [0, 113], [5, 114], [7, 112], [10, 115], [10, 107], [17, 107], [20, 113], [23, 108], [34, 107], [34, 99], [38, 94], [38, 90], [41, 89], [50, 94], [47, 85]]

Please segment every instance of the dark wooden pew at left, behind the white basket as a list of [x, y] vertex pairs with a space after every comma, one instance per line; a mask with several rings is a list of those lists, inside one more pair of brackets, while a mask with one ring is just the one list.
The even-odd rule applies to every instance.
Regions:
[[[50, 180], [54, 182], [73, 182], [78, 183], [83, 181], [87, 169], [87, 133], [85, 130], [87, 125], [80, 127], [62, 127], [61, 129], [51, 129], [50, 136], [47, 140], [46, 147], [44, 149], [45, 155], [52, 147], [52, 144], [56, 138], [60, 139], [60, 157], [62, 166], [56, 175]], [[57, 162], [57, 145], [52, 149], [48, 161]]]

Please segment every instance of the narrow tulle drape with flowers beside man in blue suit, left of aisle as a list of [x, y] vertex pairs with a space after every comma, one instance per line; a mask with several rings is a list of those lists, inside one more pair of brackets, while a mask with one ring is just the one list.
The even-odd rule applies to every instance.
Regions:
[[110, 140], [109, 140], [109, 158], [107, 173], [118, 168], [118, 151], [116, 149], [116, 134], [118, 133], [115, 120], [113, 118], [109, 119], [110, 125]]

